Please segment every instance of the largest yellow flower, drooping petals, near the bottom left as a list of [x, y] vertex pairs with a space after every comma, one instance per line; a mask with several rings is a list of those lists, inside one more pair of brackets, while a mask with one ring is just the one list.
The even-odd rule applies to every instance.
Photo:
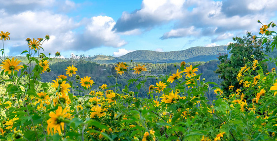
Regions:
[[[56, 110], [56, 113], [51, 111], [49, 113], [50, 119], [47, 120], [47, 133], [48, 135], [51, 133], [53, 135], [52, 128], [54, 129], [54, 134], [59, 133], [59, 135], [62, 134], [62, 131], [65, 127], [65, 118], [69, 118], [70, 114], [67, 113], [69, 111], [69, 108], [66, 107], [63, 109], [61, 106], [58, 107]], [[62, 127], [62, 129], [61, 129]]]

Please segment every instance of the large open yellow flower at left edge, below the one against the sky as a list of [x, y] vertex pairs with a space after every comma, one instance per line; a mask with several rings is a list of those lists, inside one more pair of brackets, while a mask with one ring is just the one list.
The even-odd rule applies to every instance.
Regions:
[[14, 70], [19, 71], [19, 69], [23, 68], [23, 66], [19, 65], [20, 62], [21, 61], [17, 61], [17, 59], [14, 60], [14, 57], [11, 60], [7, 58], [4, 62], [2, 62], [0, 67], [4, 69], [4, 72], [8, 71], [10, 74]]

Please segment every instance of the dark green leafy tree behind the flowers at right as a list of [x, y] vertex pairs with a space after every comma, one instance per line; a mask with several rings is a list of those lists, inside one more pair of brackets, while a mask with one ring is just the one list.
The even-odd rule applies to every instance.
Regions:
[[[251, 33], [247, 32], [243, 37], [233, 37], [235, 43], [228, 45], [227, 49], [230, 50], [231, 57], [228, 54], [220, 54], [218, 60], [220, 64], [216, 73], [220, 74], [218, 77], [223, 79], [221, 82], [221, 89], [225, 94], [229, 95], [229, 86], [234, 86], [233, 89], [239, 89], [242, 85], [239, 84], [237, 78], [238, 72], [247, 62], [253, 60], [262, 61], [264, 57], [263, 49], [269, 52], [269, 44], [262, 45], [260, 39], [256, 39]], [[262, 68], [264, 73], [267, 71], [267, 65], [263, 64]], [[253, 75], [257, 72], [252, 71]]]

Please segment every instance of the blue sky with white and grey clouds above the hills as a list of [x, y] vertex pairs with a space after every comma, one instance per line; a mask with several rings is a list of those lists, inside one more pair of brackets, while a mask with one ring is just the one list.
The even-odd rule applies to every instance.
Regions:
[[[6, 54], [27, 50], [26, 38], [50, 35], [45, 53], [121, 56], [226, 45], [277, 21], [277, 0], [0, 0]], [[240, 3], [240, 4], [238, 4]]]

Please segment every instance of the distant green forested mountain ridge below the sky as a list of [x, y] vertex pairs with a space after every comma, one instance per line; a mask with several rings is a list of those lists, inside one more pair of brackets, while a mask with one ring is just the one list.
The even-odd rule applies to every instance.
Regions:
[[227, 46], [214, 46], [204, 47], [197, 46], [191, 47], [186, 50], [170, 51], [170, 52], [157, 52], [150, 50], [137, 50], [121, 57], [112, 57], [104, 55], [96, 55], [88, 58], [88, 61], [97, 62], [100, 64], [109, 64], [115, 62], [129, 62], [133, 61], [166, 61], [167, 63], [174, 62], [196, 62], [196, 61], [210, 61], [215, 60], [218, 54], [228, 53]]

